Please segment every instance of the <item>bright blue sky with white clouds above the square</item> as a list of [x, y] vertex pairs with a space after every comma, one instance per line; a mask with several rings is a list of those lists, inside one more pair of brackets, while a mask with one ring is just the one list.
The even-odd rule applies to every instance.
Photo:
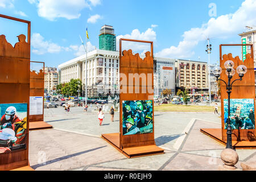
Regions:
[[[256, 27], [256, 1], [146, 1], [146, 0], [0, 0], [0, 13], [31, 21], [31, 60], [57, 67], [84, 53], [79, 35], [88, 49], [98, 48], [101, 26], [114, 27], [117, 39], [154, 42], [154, 55], [172, 59], [208, 61], [207, 38], [212, 44], [210, 62], [219, 59], [219, 44], [241, 43], [245, 26]], [[216, 11], [215, 11], [216, 10]], [[15, 44], [27, 35], [26, 24], [0, 19], [0, 34]], [[129, 45], [127, 45], [129, 46]], [[142, 53], [144, 46], [132, 45]], [[224, 53], [240, 54], [241, 48]], [[241, 57], [241, 56], [240, 56]]]

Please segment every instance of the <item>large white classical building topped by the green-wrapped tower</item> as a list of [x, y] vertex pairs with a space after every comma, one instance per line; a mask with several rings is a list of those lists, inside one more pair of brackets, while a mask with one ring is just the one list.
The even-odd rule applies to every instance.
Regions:
[[[86, 56], [82, 55], [59, 65], [60, 83], [71, 78], [80, 78], [85, 92]], [[118, 93], [119, 52], [95, 49], [87, 53], [88, 97], [98, 97], [98, 93]]]

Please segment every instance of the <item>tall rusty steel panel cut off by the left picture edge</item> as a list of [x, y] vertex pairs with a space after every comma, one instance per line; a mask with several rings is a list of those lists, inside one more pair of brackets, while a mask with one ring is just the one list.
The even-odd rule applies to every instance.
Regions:
[[0, 17], [27, 23], [28, 25], [27, 43], [14, 48], [10, 47], [7, 42], [0, 43], [0, 103], [27, 103], [26, 149], [0, 154], [0, 170], [9, 170], [28, 166], [31, 23], [27, 20], [1, 14]]

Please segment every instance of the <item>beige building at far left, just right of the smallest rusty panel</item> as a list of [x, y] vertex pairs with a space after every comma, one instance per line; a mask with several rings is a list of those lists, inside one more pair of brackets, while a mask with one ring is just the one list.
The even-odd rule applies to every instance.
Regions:
[[47, 89], [48, 93], [51, 93], [58, 84], [58, 72], [57, 68], [46, 67], [44, 68], [44, 89]]

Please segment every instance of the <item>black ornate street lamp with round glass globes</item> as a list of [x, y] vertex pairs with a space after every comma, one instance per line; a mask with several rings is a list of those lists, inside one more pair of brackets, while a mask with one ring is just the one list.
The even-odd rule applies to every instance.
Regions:
[[228, 60], [224, 63], [224, 67], [226, 68], [226, 75], [228, 76], [228, 83], [226, 83], [224, 80], [219, 79], [220, 74], [222, 72], [221, 67], [214, 67], [213, 68], [213, 74], [216, 77], [216, 80], [220, 80], [223, 81], [226, 84], [226, 92], [228, 93], [228, 119], [227, 119], [227, 123], [228, 126], [226, 127], [227, 129], [227, 142], [226, 142], [226, 148], [231, 148], [232, 147], [232, 127], [230, 125], [230, 94], [231, 94], [231, 90], [232, 90], [232, 85], [235, 81], [240, 80], [242, 81], [242, 77], [243, 75], [245, 75], [245, 73], [247, 72], [247, 68], [245, 65], [239, 65], [237, 67], [237, 73], [240, 76], [240, 79], [236, 79], [234, 81], [231, 82], [231, 78], [236, 74], [236, 71], [234, 70], [234, 62], [231, 60]]

